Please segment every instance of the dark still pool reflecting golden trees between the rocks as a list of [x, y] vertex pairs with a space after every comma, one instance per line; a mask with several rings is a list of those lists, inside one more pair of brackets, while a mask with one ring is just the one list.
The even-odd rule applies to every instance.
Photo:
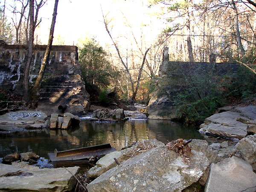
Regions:
[[167, 120], [129, 120], [124, 123], [86, 122], [69, 130], [47, 130], [26, 132], [12, 136], [0, 136], [0, 157], [12, 152], [32, 151], [48, 158], [47, 153], [72, 148], [81, 148], [110, 143], [120, 149], [131, 143], [144, 139], [157, 139], [163, 143], [178, 138], [203, 139], [193, 126], [173, 123]]

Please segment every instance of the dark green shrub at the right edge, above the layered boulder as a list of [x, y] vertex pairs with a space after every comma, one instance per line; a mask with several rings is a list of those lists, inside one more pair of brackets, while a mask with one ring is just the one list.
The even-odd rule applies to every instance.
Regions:
[[242, 66], [232, 76], [231, 83], [227, 86], [226, 95], [238, 99], [250, 99], [256, 96], [256, 75]]

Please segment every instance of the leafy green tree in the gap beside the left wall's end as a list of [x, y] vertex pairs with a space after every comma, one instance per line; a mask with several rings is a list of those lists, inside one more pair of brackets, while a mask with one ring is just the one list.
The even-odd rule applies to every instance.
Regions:
[[92, 38], [79, 48], [79, 63], [90, 99], [108, 103], [107, 90], [116, 87], [119, 71], [111, 67], [105, 50]]

